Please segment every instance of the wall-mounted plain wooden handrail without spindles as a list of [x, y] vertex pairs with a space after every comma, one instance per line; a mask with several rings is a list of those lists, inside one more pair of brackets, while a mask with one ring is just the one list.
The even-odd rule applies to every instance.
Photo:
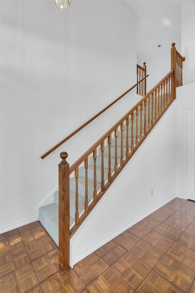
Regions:
[[102, 113], [104, 113], [108, 108], [110, 108], [112, 105], [114, 105], [116, 102], [118, 102], [122, 97], [124, 97], [124, 95], [126, 95], [129, 91], [133, 90], [133, 88], [135, 88], [140, 82], [142, 82], [143, 80], [145, 80], [148, 76], [149, 76], [149, 74], [146, 75], [142, 80], [140, 80], [139, 82], [137, 82], [136, 84], [134, 84], [133, 87], [129, 88], [124, 94], [122, 94], [119, 98], [117, 98], [116, 100], [114, 100], [111, 104], [109, 104], [107, 107], [105, 107], [103, 110], [101, 110], [98, 114], [96, 114], [95, 116], [93, 116], [90, 120], [88, 120], [87, 122], [85, 122], [83, 125], [81, 125], [79, 128], [77, 128], [75, 131], [73, 131], [71, 134], [69, 134], [66, 138], [64, 138], [62, 141], [60, 141], [57, 145], [55, 145], [53, 148], [51, 148], [44, 155], [42, 155], [41, 156], [41, 159], [44, 159], [49, 154], [51, 154], [52, 152], [54, 152], [56, 150], [56, 148], [59, 148], [64, 142], [66, 142], [67, 140], [69, 140], [69, 138], [73, 137], [73, 135], [75, 135], [77, 132], [79, 132], [81, 129], [83, 129], [85, 126], [87, 126], [90, 122], [92, 122], [95, 118], [97, 118]]

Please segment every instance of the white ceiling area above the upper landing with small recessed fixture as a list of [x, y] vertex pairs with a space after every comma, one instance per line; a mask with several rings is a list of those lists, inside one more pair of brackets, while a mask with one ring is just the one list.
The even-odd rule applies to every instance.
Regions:
[[[137, 12], [137, 56], [159, 59], [171, 44], [181, 52], [181, 0], [126, 0]], [[162, 44], [160, 48], [157, 46]]]

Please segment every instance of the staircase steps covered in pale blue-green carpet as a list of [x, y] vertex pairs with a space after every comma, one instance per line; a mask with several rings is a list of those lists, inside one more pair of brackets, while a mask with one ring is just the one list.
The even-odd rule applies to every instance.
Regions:
[[[150, 106], [150, 110], [152, 105]], [[148, 111], [147, 111], [148, 113]], [[138, 115], [140, 118], [140, 114]], [[138, 127], [140, 129], [140, 123], [138, 123]], [[133, 141], [136, 138], [136, 121], [133, 121]], [[142, 133], [144, 133], [144, 127], [142, 129]], [[128, 131], [129, 137], [129, 146], [131, 145], [131, 130]], [[126, 145], [126, 125], [124, 125], [123, 130], [123, 141]], [[120, 157], [121, 157], [121, 131], [118, 131], [118, 139], [117, 139], [117, 164], [119, 166]], [[125, 157], [126, 148], [123, 148], [123, 154]], [[108, 140], [104, 149], [104, 180], [108, 180]], [[111, 142], [111, 173], [114, 172], [115, 165], [115, 140], [112, 139]], [[97, 191], [101, 188], [101, 148], [98, 148], [98, 155], [96, 159], [96, 176], [97, 176]], [[94, 191], [94, 159], [93, 156], [89, 157], [89, 166], [87, 172], [88, 178], [88, 200], [89, 202], [93, 199], [93, 191]], [[85, 202], [85, 167], [79, 167], [79, 178], [78, 178], [78, 200], [79, 200], [79, 214], [81, 215], [84, 210]], [[75, 222], [75, 177], [70, 178], [70, 227]], [[55, 243], [59, 245], [59, 192], [54, 192], [54, 203], [49, 205], [44, 205], [39, 208], [39, 221], [48, 231], [50, 236], [53, 238]]]

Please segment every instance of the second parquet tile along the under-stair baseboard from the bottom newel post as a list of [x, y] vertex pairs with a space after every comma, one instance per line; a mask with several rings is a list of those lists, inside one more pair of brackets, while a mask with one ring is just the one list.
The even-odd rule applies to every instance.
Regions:
[[95, 251], [109, 266], [127, 251], [115, 241], [111, 240]]

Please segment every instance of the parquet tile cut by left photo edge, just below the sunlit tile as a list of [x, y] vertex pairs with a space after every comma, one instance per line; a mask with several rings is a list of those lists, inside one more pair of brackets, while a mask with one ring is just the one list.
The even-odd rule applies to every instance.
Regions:
[[1, 278], [19, 269], [25, 264], [30, 263], [30, 259], [24, 246], [1, 256], [0, 261]]

